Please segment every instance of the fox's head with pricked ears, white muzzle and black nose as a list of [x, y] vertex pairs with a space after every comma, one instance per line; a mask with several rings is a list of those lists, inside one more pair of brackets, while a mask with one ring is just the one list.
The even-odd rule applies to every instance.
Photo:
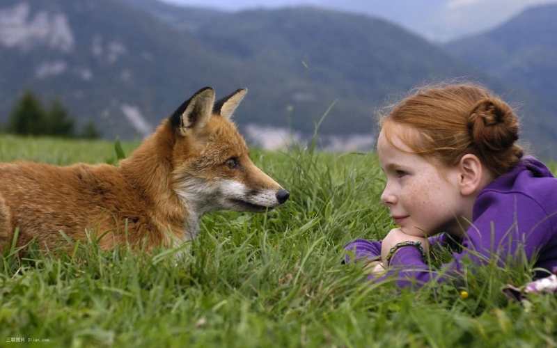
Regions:
[[202, 88], [169, 118], [175, 139], [173, 188], [195, 212], [265, 212], [290, 196], [253, 164], [230, 120], [246, 93], [241, 88], [214, 102], [214, 90]]

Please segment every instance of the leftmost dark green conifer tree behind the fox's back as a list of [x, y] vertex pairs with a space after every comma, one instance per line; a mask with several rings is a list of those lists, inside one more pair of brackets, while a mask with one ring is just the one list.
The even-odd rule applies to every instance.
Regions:
[[8, 132], [38, 136], [46, 133], [45, 123], [45, 109], [42, 103], [31, 90], [25, 90], [10, 113]]

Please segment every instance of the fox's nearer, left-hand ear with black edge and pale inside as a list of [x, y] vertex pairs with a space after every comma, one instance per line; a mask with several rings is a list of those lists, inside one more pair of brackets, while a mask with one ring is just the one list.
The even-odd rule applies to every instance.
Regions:
[[182, 135], [186, 135], [189, 129], [203, 128], [212, 116], [213, 103], [214, 90], [201, 88], [174, 111], [170, 117], [172, 127]]

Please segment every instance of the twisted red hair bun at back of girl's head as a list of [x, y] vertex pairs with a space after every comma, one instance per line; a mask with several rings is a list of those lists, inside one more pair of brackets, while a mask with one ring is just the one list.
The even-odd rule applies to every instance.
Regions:
[[518, 140], [517, 115], [507, 103], [496, 97], [477, 102], [472, 107], [467, 126], [472, 143], [482, 152], [506, 150]]

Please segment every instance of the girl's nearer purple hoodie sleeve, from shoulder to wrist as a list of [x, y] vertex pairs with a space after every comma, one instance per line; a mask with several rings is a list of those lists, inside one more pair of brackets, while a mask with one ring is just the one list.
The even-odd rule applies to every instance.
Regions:
[[[461, 251], [453, 253], [454, 260], [441, 267], [446, 276], [460, 276], [464, 258], [484, 264], [497, 255], [499, 264], [503, 265], [524, 248], [526, 257], [531, 260], [551, 237], [550, 215], [523, 193], [486, 191], [478, 196], [474, 215], [473, 226], [466, 231]], [[409, 246], [393, 255], [389, 267], [392, 270], [387, 275], [397, 274], [400, 287], [407, 287], [414, 280], [418, 286], [432, 280], [437, 283], [446, 280], [445, 276], [440, 276], [441, 272], [432, 271], [423, 262], [416, 248]]]

